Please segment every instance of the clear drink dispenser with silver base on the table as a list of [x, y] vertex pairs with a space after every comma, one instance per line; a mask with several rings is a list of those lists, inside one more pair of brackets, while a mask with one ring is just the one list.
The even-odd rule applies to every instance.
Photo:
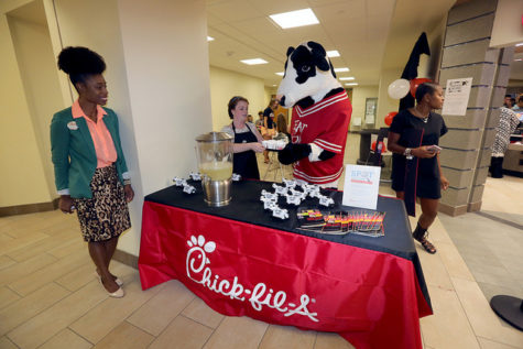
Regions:
[[209, 206], [219, 207], [230, 203], [232, 140], [232, 137], [225, 132], [209, 132], [196, 138], [204, 200]]

